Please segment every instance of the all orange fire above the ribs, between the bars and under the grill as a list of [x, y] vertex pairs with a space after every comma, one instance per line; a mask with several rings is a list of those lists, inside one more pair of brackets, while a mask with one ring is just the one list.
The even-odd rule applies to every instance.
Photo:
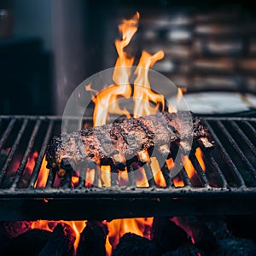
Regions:
[[[154, 114], [158, 111], [162, 111], [165, 108], [165, 99], [164, 96], [155, 93], [150, 89], [150, 83], [148, 79], [148, 69], [152, 67], [155, 61], [159, 61], [164, 57], [163, 51], [158, 51], [154, 55], [150, 55], [148, 52], [143, 51], [140, 61], [138, 62], [137, 69], [135, 70], [135, 79], [134, 86], [131, 87], [129, 82], [131, 76], [131, 66], [134, 63], [134, 58], [130, 57], [125, 52], [125, 47], [131, 42], [131, 38], [137, 32], [137, 22], [139, 20], [139, 14], [137, 13], [131, 20], [124, 20], [121, 25], [119, 25], [119, 32], [121, 33], [122, 38], [115, 41], [115, 46], [118, 53], [118, 59], [115, 64], [113, 72], [113, 82], [110, 84], [107, 89], [104, 89], [96, 94], [92, 98], [92, 101], [95, 103], [95, 109], [93, 114], [94, 125], [104, 125], [107, 122], [109, 113], [115, 113], [119, 115], [125, 114], [128, 118], [131, 117], [131, 114], [127, 111], [126, 108], [120, 108], [118, 104], [119, 97], [130, 98], [133, 96], [134, 108], [133, 116], [139, 117], [148, 114]], [[85, 87], [85, 90], [91, 89], [90, 85]], [[131, 95], [133, 93], [133, 95]], [[182, 90], [177, 90], [177, 102], [181, 100]], [[153, 105], [152, 105], [153, 103]], [[167, 107], [169, 111], [177, 112], [177, 109], [172, 106]], [[202, 160], [201, 149], [196, 149], [196, 157], [201, 165], [201, 168], [205, 171], [204, 162]], [[32, 174], [32, 170], [35, 166], [36, 160], [38, 158], [38, 153], [35, 152], [32, 154], [32, 157], [28, 160], [26, 165], [26, 172]], [[183, 165], [185, 171], [188, 173], [189, 178], [196, 175], [195, 168], [190, 162], [188, 156], [182, 155]], [[38, 173], [38, 179], [34, 185], [35, 188], [44, 188], [47, 183], [47, 178], [49, 176], [49, 170], [46, 168], [47, 162], [44, 158], [40, 172]], [[157, 187], [166, 187], [166, 180], [163, 177], [162, 172], [160, 172], [160, 166], [158, 161], [155, 158], [150, 160], [150, 165], [154, 173], [154, 182]], [[172, 158], [166, 160], [166, 166], [172, 171], [172, 168], [175, 166]], [[111, 170], [110, 166], [101, 166], [101, 180], [99, 186], [102, 187], [111, 187]], [[96, 170], [87, 168], [85, 170], [85, 187], [90, 188], [95, 183]], [[127, 167], [125, 171], [118, 173], [119, 177], [119, 186], [129, 186], [129, 178]], [[139, 168], [139, 172], [135, 175], [137, 187], [148, 187], [148, 179], [145, 174], [143, 167]], [[73, 173], [72, 185], [73, 187], [78, 186], [79, 176], [76, 173]], [[173, 183], [175, 187], [183, 187], [184, 183], [180, 177], [174, 177]], [[61, 186], [61, 178], [56, 177], [54, 187]], [[47, 200], [45, 200], [47, 203]], [[86, 221], [59, 221], [61, 223], [69, 224], [75, 233], [76, 239], [74, 241], [74, 250], [76, 252], [79, 246], [79, 237], [82, 230], [86, 226]], [[34, 221], [31, 224], [31, 229], [43, 229], [53, 231], [55, 225], [59, 223], [57, 221], [49, 220], [38, 220]], [[106, 240], [106, 251], [108, 255], [111, 255], [113, 248], [119, 243], [119, 238], [125, 233], [131, 232], [138, 236], [144, 236], [150, 239], [150, 229], [153, 223], [153, 218], [127, 218], [127, 219], [114, 219], [110, 222], [104, 222], [108, 226], [108, 236]]]

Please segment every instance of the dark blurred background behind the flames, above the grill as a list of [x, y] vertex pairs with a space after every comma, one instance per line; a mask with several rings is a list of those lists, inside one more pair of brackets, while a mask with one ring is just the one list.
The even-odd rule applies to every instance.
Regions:
[[114, 66], [117, 26], [136, 11], [127, 51], [138, 59], [142, 49], [163, 49], [153, 69], [186, 87], [199, 112], [220, 102], [231, 111], [255, 108], [253, 2], [0, 0], [0, 114], [61, 115], [84, 79]]

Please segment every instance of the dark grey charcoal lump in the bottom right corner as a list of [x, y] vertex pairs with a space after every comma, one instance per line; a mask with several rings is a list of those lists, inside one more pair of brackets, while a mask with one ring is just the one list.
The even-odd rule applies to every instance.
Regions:
[[212, 253], [212, 256], [254, 256], [256, 245], [252, 240], [230, 237], [218, 241], [219, 250]]

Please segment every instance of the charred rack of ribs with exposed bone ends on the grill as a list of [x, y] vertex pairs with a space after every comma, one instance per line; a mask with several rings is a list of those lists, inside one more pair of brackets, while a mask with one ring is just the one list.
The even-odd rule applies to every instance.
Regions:
[[123, 170], [126, 160], [133, 157], [147, 162], [148, 149], [154, 146], [167, 158], [174, 143], [186, 152], [192, 139], [211, 148], [209, 138], [207, 127], [190, 112], [156, 113], [61, 134], [49, 143], [46, 160], [58, 170], [73, 169], [84, 162], [99, 166], [102, 160], [112, 160]]

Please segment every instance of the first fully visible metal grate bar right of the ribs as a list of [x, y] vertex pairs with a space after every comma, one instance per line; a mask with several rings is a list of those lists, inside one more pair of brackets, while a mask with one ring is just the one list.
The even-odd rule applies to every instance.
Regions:
[[233, 161], [231, 160], [230, 155], [225, 150], [224, 146], [218, 139], [218, 136], [215, 133], [215, 131], [213, 131], [212, 126], [209, 124], [209, 122], [207, 120], [204, 120], [204, 122], [207, 125], [207, 128], [209, 129], [209, 131], [211, 132], [212, 137], [214, 137], [214, 140], [215, 140], [216, 144], [218, 145], [219, 151], [223, 155], [224, 160], [226, 161], [227, 165], [230, 166], [231, 172], [235, 175], [236, 180], [238, 182], [238, 186], [244, 187], [245, 182], [244, 182], [243, 178], [241, 177], [240, 172], [237, 170], [236, 166], [234, 165]]

